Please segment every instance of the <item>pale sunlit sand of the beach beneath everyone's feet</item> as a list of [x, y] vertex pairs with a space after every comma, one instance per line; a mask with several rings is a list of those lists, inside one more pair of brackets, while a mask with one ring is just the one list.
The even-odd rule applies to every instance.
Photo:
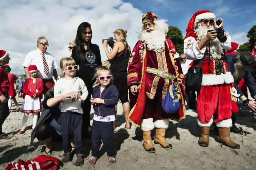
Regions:
[[[19, 100], [22, 104], [22, 100]], [[16, 109], [14, 104], [12, 109]], [[93, 110], [91, 112], [91, 119]], [[197, 144], [200, 135], [197, 125], [197, 114], [187, 110], [187, 118], [181, 122], [171, 121], [167, 129], [166, 138], [173, 146], [172, 150], [164, 150], [155, 144], [156, 153], [148, 153], [142, 147], [142, 131], [132, 126], [132, 129], [124, 128], [124, 116], [122, 105], [118, 104], [115, 130], [116, 164], [110, 166], [104, 146], [100, 150], [100, 159], [95, 166], [88, 164], [91, 156], [90, 147], [86, 145], [85, 163], [81, 167], [73, 165], [76, 156], [69, 163], [62, 163], [60, 169], [97, 169], [97, 170], [255, 170], [256, 167], [256, 121], [249, 110], [242, 107], [238, 117], [237, 126], [244, 130], [243, 135], [231, 133], [231, 138], [241, 145], [239, 150], [230, 149], [216, 142], [213, 127], [210, 132], [209, 147], [204, 148]], [[3, 131], [12, 135], [9, 140], [0, 141], [0, 169], [4, 169], [10, 161], [19, 159], [33, 159], [42, 152], [43, 145], [35, 139], [35, 145], [29, 146], [32, 127], [32, 115], [29, 116], [27, 131], [19, 134], [23, 114], [12, 111], [3, 125]], [[91, 120], [92, 123], [92, 120]], [[54, 152], [49, 154], [62, 159], [61, 143], [55, 144]]]

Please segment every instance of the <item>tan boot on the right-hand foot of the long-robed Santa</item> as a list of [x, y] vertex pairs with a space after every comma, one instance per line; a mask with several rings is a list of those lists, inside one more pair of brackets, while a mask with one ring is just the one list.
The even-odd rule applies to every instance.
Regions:
[[166, 129], [156, 129], [155, 144], [160, 144], [164, 149], [172, 149], [172, 144], [169, 144], [165, 139]]

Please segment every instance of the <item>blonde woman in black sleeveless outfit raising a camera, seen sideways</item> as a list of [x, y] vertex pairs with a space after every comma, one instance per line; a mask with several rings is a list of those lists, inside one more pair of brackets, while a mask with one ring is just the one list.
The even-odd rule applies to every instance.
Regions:
[[[116, 31], [114, 31], [114, 37], [115, 37], [116, 43], [111, 53], [109, 53], [108, 51], [107, 40], [104, 41], [103, 47], [108, 57], [108, 60], [111, 63], [109, 69], [111, 70], [114, 78], [113, 85], [116, 86], [119, 93], [119, 99], [121, 100], [123, 105], [123, 111], [125, 116], [125, 128], [131, 129], [131, 125], [128, 121], [130, 104], [128, 100], [128, 87], [127, 87], [127, 74], [128, 74], [127, 67], [128, 67], [129, 57], [131, 54], [131, 48], [126, 41], [126, 36], [127, 36], [126, 33], [127, 31], [124, 31], [122, 29], [117, 29]], [[116, 112], [117, 112], [117, 106], [116, 106]]]

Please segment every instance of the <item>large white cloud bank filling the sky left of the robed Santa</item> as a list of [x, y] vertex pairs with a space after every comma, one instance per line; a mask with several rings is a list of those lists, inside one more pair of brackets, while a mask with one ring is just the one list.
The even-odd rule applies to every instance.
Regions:
[[57, 63], [69, 55], [68, 42], [75, 38], [82, 22], [92, 25], [92, 43], [100, 46], [101, 59], [107, 57], [102, 39], [113, 37], [113, 31], [128, 31], [131, 48], [138, 41], [143, 13], [121, 0], [2, 0], [0, 7], [0, 48], [10, 53], [10, 66], [15, 74], [23, 74], [22, 63], [26, 54], [36, 49], [37, 38], [49, 40], [47, 52]]

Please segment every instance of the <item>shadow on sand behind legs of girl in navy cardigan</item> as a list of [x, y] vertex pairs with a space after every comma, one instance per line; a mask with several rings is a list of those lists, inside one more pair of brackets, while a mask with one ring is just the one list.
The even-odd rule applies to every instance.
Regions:
[[[130, 137], [130, 135], [128, 134], [127, 130], [122, 128], [119, 129], [117, 132], [114, 133], [114, 150], [115, 150], [115, 155], [117, 155], [117, 151], [119, 151], [121, 149], [121, 145], [124, 143], [124, 141], [126, 139], [128, 139]], [[101, 147], [100, 151], [99, 151], [99, 157], [102, 157], [105, 153], [105, 148], [104, 148], [104, 144]]]

